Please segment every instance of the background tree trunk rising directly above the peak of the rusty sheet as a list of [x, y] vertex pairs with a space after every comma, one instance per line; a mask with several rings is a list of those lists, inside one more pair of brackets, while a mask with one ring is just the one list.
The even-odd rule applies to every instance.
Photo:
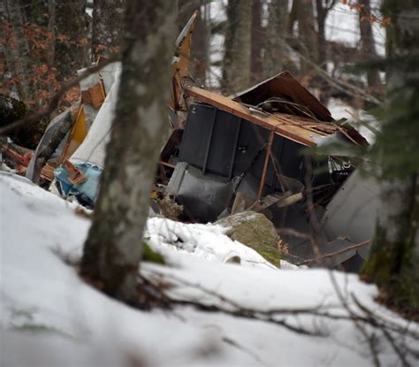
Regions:
[[284, 38], [288, 20], [288, 0], [272, 1], [268, 7], [268, 26], [263, 57], [265, 77], [282, 72], [284, 65]]

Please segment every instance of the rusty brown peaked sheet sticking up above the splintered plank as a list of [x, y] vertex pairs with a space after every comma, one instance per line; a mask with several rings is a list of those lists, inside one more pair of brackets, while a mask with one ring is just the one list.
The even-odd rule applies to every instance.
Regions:
[[[333, 121], [331, 111], [288, 71], [279, 73], [268, 80], [263, 80], [254, 87], [232, 96], [232, 99], [237, 102], [254, 106], [272, 98], [277, 98], [275, 103], [280, 110], [279, 112], [297, 116], [307, 116], [307, 112], [311, 112], [314, 119]], [[283, 103], [280, 101], [283, 101]], [[305, 111], [306, 109], [308, 111]]]

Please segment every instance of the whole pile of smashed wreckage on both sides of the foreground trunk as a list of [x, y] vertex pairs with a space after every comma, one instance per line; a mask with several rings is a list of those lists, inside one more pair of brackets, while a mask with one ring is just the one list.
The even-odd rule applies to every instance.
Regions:
[[[345, 155], [315, 160], [306, 148], [331, 139], [349, 146], [367, 142], [332, 119], [289, 72], [234, 96], [195, 86], [187, 67], [195, 18], [176, 42], [171, 134], [161, 150], [151, 207], [187, 222], [218, 220], [233, 229], [248, 223], [254, 232], [270, 233], [257, 244], [255, 236], [246, 243], [246, 235], [231, 231], [273, 264], [278, 258], [272, 256], [282, 256], [294, 264], [343, 264], [356, 271], [368, 254], [377, 185]], [[41, 174], [58, 195], [94, 206], [119, 67], [108, 65], [83, 81], [78, 109], [51, 121], [28, 164], [28, 178], [37, 181]], [[51, 157], [57, 157], [52, 168]], [[255, 218], [268, 225], [254, 226]], [[319, 257], [324, 261], [312, 261]]]

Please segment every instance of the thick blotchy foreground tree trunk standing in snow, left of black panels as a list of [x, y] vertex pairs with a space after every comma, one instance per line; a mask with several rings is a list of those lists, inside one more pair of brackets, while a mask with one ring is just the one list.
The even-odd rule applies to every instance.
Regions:
[[117, 110], [81, 261], [82, 274], [105, 293], [137, 305], [142, 231], [168, 126], [175, 20], [175, 2], [126, 1]]

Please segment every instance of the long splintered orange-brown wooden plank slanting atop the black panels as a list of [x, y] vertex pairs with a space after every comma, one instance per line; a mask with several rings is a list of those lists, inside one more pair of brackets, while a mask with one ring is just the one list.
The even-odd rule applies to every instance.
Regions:
[[[314, 120], [300, 118], [298, 116], [286, 115], [281, 117], [281, 114], [264, 115], [262, 112], [250, 111], [248, 107], [243, 104], [232, 101], [232, 99], [218, 95], [197, 87], [190, 87], [184, 89], [186, 96], [192, 96], [203, 103], [209, 103], [220, 110], [232, 113], [241, 119], [246, 119], [253, 122], [255, 125], [263, 126], [269, 130], [275, 130], [278, 135], [296, 141], [302, 145], [315, 146], [314, 137], [324, 136], [327, 133], [313, 131]], [[304, 126], [307, 124], [307, 128]], [[327, 123], [326, 123], [327, 124]]]

